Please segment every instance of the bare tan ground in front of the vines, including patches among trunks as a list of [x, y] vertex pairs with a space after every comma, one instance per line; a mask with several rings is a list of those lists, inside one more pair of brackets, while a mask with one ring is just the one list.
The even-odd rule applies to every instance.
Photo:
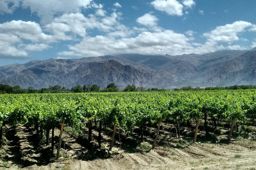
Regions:
[[[179, 140], [173, 138], [173, 143], [169, 142], [169, 146], [164, 145], [164, 142], [158, 142], [159, 146], [154, 150], [141, 151], [130, 146], [129, 142], [128, 144], [122, 142], [122, 149], [120, 149], [117, 133], [113, 153], [106, 156], [105, 148], [109, 147], [111, 130], [109, 132], [106, 130], [102, 134], [101, 149], [97, 149], [97, 142], [95, 142], [98, 135], [96, 130], [93, 130], [92, 142], [83, 142], [86, 140], [86, 134], [84, 139], [79, 139], [66, 131], [62, 140], [62, 157], [59, 160], [50, 160], [50, 163], [42, 163], [45, 160], [42, 157], [47, 157], [45, 151], [49, 151], [50, 146], [36, 145], [36, 141], [31, 139], [35, 135], [34, 131], [22, 125], [15, 130], [7, 126], [6, 131], [9, 135], [6, 135], [4, 149], [8, 167], [0, 166], [0, 169], [256, 169], [256, 141], [254, 140], [233, 140], [229, 143], [187, 143], [184, 147], [177, 147]], [[169, 132], [161, 133], [159, 138], [164, 140]], [[55, 129], [56, 141], [58, 135], [59, 130]], [[150, 135], [145, 136], [145, 140], [153, 143]], [[55, 145], [57, 146], [57, 143]], [[50, 156], [49, 159], [51, 159]], [[0, 162], [3, 165], [3, 161], [0, 160]], [[65, 164], [65, 167], [57, 168], [60, 164]]]

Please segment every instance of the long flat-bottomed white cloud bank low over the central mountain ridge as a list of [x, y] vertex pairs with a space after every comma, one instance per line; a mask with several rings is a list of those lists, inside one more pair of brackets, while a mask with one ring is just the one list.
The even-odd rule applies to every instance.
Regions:
[[[142, 32], [135, 38], [115, 39], [114, 37], [85, 37], [81, 43], [70, 46], [74, 54], [82, 56], [115, 55], [123, 53], [172, 54], [184, 52], [189, 39], [172, 30], [163, 32]], [[97, 50], [95, 50], [97, 49]]]

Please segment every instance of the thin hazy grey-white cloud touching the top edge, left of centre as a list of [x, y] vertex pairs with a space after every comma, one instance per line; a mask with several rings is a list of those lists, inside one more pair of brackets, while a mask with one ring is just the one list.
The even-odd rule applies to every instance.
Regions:
[[54, 15], [81, 12], [82, 8], [87, 8], [92, 0], [23, 0], [22, 7], [30, 8], [41, 18], [43, 25], [50, 23]]

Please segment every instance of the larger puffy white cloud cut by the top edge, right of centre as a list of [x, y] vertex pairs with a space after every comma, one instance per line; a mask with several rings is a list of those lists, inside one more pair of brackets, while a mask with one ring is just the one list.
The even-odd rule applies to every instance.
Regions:
[[183, 5], [176, 0], [155, 0], [151, 2], [156, 10], [165, 11], [169, 15], [182, 16]]

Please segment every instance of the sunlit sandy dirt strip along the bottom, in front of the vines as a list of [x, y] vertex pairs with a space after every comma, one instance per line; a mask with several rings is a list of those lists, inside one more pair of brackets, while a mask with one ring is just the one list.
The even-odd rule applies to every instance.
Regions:
[[[234, 142], [226, 144], [202, 143], [185, 148], [157, 147], [140, 153], [122, 150], [106, 159], [60, 160], [45, 166], [29, 166], [23, 169], [256, 169], [256, 143]], [[118, 154], [118, 155], [117, 155]], [[18, 166], [0, 169], [19, 169]]]

